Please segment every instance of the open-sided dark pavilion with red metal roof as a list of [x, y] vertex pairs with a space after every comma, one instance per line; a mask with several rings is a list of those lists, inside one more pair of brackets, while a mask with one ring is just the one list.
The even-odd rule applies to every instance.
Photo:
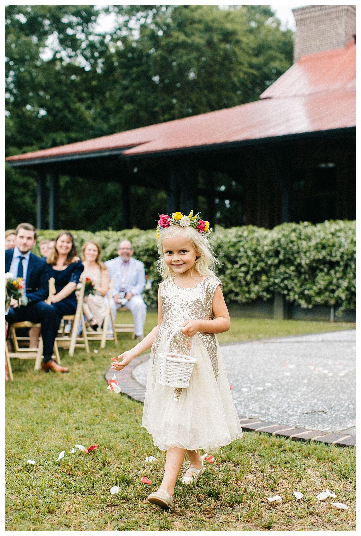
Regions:
[[356, 37], [301, 56], [258, 101], [6, 160], [38, 173], [38, 228], [47, 175], [51, 229], [59, 175], [120, 182], [123, 228], [133, 185], [167, 191], [169, 211], [203, 197], [211, 225], [223, 202], [240, 206], [234, 225], [355, 219]]

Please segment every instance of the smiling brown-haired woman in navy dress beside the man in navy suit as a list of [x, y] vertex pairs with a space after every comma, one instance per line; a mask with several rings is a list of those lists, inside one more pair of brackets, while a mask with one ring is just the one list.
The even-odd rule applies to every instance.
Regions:
[[[49, 279], [53, 277], [55, 279], [55, 294], [51, 297], [51, 307], [53, 307], [58, 316], [58, 323], [56, 330], [54, 327], [54, 339], [57, 334], [57, 329], [60, 321], [64, 315], [75, 315], [77, 309], [77, 297], [75, 295], [75, 289], [79, 282], [80, 274], [84, 270], [82, 261], [77, 256], [77, 249], [73, 239], [73, 236], [68, 231], [61, 232], [55, 239], [54, 249], [50, 252], [47, 259]], [[54, 370], [54, 364], [57, 367], [54, 360], [48, 361], [42, 366], [44, 370]], [[61, 372], [68, 372], [65, 367], [60, 367], [64, 370]]]

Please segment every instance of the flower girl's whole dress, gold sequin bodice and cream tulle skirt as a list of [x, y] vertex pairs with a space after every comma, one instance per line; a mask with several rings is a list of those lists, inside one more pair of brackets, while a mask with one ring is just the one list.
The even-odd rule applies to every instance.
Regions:
[[[242, 437], [229, 382], [213, 333], [198, 332], [193, 338], [197, 359], [189, 387], [174, 389], [161, 385], [159, 353], [170, 334], [185, 320], [211, 320], [212, 300], [219, 285], [213, 276], [193, 288], [181, 288], [167, 278], [160, 287], [163, 322], [151, 348], [142, 426], [160, 450], [178, 446], [214, 452]], [[176, 333], [170, 352], [190, 354], [190, 338]]]

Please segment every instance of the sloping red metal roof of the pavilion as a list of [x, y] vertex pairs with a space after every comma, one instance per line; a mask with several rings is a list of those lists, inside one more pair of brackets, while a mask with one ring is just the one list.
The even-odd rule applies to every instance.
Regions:
[[[356, 125], [356, 45], [303, 56], [261, 95], [244, 105], [144, 126], [8, 161], [123, 149], [137, 155], [241, 142]], [[127, 149], [128, 147], [128, 149]]]

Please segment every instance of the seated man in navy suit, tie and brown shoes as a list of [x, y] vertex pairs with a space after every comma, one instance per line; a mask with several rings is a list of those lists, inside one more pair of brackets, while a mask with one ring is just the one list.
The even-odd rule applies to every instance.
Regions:
[[19, 306], [11, 299], [10, 310], [5, 316], [9, 326], [15, 322], [41, 322], [41, 336], [43, 340], [43, 370], [55, 372], [68, 372], [51, 359], [53, 355], [55, 324], [59, 318], [53, 307], [45, 303], [49, 294], [49, 276], [46, 259], [41, 259], [31, 252], [36, 242], [36, 229], [31, 224], [19, 224], [16, 228], [16, 246], [5, 250], [5, 272], [14, 277], [23, 277], [25, 280], [25, 295], [28, 299], [26, 306]]

